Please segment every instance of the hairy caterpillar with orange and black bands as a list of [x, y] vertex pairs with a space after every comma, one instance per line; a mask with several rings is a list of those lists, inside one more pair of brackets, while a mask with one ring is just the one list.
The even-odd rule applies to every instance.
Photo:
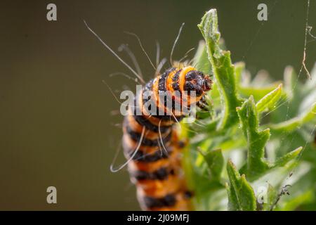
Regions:
[[[185, 115], [176, 115], [175, 109], [160, 103], [159, 91], [178, 91], [180, 98], [173, 96], [172, 105], [183, 103], [184, 93], [195, 91], [187, 106], [204, 105], [204, 94], [211, 89], [211, 79], [191, 66], [170, 68], [162, 75], [150, 80], [135, 97], [142, 115], [131, 112], [124, 118], [123, 148], [129, 160], [131, 181], [136, 184], [138, 201], [143, 210], [190, 210], [191, 193], [187, 190], [180, 165], [183, 143], [178, 140], [173, 124]], [[143, 107], [146, 97], [143, 92], [153, 91], [157, 112], [171, 110], [172, 115], [150, 115]], [[164, 150], [162, 150], [164, 148]], [[136, 152], [137, 151], [137, 152]], [[132, 158], [131, 158], [132, 157]]]

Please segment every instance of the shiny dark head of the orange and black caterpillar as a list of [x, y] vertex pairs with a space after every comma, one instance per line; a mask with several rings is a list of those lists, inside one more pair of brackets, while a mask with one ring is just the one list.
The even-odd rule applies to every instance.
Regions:
[[190, 70], [185, 75], [185, 83], [183, 90], [190, 94], [190, 91], [195, 91], [196, 96], [202, 96], [206, 91], [211, 90], [212, 80], [208, 75], [197, 70]]

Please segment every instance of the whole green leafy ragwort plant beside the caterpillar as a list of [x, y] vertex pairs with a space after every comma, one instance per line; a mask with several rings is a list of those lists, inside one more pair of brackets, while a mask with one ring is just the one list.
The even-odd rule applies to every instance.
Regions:
[[209, 112], [181, 124], [195, 210], [316, 210], [316, 66], [304, 84], [291, 67], [284, 82], [251, 80], [224, 50], [216, 9], [198, 27], [194, 65], [214, 83]]

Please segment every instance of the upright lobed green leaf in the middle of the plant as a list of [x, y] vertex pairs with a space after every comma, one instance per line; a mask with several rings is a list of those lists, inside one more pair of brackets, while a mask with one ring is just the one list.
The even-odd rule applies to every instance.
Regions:
[[237, 108], [237, 113], [248, 143], [246, 172], [252, 177], [265, 172], [269, 167], [264, 159], [264, 148], [270, 138], [270, 130], [258, 130], [258, 113], [252, 96], [241, 108]]

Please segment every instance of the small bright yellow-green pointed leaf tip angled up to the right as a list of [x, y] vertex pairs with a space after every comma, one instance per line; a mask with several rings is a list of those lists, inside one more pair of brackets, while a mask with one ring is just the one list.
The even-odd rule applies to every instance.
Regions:
[[261, 113], [266, 109], [273, 108], [275, 106], [275, 103], [277, 103], [277, 101], [279, 100], [281, 94], [282, 84], [279, 84], [276, 89], [265, 95], [263, 98], [261, 98], [260, 101], [258, 101], [258, 103], [256, 103], [256, 109], [258, 113]]

